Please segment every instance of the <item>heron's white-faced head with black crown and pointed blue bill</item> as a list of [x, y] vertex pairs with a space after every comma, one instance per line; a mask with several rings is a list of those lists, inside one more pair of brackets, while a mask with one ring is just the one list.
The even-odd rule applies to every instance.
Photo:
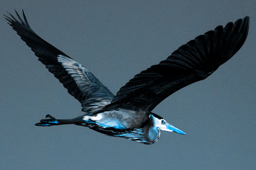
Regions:
[[168, 131], [168, 132], [176, 132], [185, 135], [186, 133], [182, 130], [174, 127], [173, 125], [168, 124], [161, 116], [151, 113], [150, 115], [152, 122], [156, 128], [159, 128], [162, 131]]

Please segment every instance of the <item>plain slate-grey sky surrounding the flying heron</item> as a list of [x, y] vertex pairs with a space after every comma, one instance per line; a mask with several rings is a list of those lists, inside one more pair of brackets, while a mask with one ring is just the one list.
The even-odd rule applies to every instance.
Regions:
[[256, 1], [6, 1], [32, 29], [116, 93], [196, 36], [250, 16], [241, 50], [153, 112], [187, 135], [144, 145], [73, 125], [34, 126], [81, 106], [0, 17], [0, 169], [253, 169], [256, 167]]

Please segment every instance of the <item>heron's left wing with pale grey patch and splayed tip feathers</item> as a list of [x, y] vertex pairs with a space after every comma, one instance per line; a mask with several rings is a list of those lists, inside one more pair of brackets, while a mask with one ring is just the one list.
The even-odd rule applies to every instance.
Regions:
[[38, 60], [45, 64], [68, 92], [81, 103], [82, 111], [92, 114], [112, 101], [114, 94], [86, 67], [40, 38], [30, 28], [24, 12], [24, 20], [17, 12], [16, 14], [19, 20], [11, 14], [11, 18], [5, 15], [9, 25], [31, 47]]

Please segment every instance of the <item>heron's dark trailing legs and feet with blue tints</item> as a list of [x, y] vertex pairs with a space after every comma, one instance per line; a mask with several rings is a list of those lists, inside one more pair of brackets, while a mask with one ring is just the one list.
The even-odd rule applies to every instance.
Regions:
[[82, 120], [81, 117], [73, 118], [73, 119], [56, 119], [50, 114], [46, 115], [46, 119], [41, 119], [39, 123], [35, 124], [35, 126], [56, 126], [56, 125], [66, 125], [66, 124], [78, 124]]

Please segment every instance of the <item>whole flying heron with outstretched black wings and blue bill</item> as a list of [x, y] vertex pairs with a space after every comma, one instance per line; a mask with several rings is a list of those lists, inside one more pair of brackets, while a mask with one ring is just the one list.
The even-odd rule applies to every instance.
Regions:
[[[16, 10], [15, 10], [16, 12]], [[38, 60], [77, 99], [84, 114], [72, 119], [46, 115], [36, 126], [74, 124], [144, 144], [159, 140], [160, 131], [185, 134], [152, 110], [175, 91], [210, 76], [241, 48], [249, 17], [228, 22], [180, 46], [166, 60], [135, 75], [114, 95], [86, 67], [40, 38], [23, 18], [5, 15], [9, 25], [31, 47]]]

